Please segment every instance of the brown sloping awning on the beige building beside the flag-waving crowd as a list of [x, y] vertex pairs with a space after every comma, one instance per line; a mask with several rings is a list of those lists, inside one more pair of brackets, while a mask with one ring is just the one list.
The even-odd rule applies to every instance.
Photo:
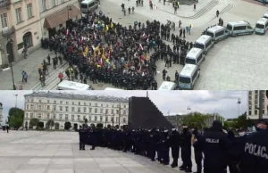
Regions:
[[81, 14], [80, 9], [76, 7], [74, 4], [70, 5], [70, 7], [71, 10], [69, 10], [68, 7], [66, 6], [62, 10], [59, 10], [58, 12], [54, 12], [53, 14], [48, 15], [45, 19], [44, 28], [53, 29], [56, 26], [68, 21], [68, 19], [76, 18]]

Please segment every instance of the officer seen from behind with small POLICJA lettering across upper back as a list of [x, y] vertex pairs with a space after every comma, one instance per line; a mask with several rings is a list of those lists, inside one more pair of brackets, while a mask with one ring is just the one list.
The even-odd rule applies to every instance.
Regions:
[[214, 120], [200, 141], [204, 152], [204, 173], [227, 173], [230, 140], [222, 131], [222, 122]]

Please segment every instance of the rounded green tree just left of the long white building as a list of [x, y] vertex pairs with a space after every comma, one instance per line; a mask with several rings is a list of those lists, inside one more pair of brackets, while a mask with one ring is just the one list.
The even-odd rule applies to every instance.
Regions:
[[21, 128], [24, 119], [24, 111], [20, 108], [11, 108], [8, 111], [8, 124], [13, 128]]

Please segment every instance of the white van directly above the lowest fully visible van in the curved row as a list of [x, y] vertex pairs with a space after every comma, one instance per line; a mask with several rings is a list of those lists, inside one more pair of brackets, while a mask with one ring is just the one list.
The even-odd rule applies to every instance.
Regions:
[[203, 54], [203, 50], [193, 47], [186, 55], [185, 63], [200, 65], [204, 60], [205, 54]]

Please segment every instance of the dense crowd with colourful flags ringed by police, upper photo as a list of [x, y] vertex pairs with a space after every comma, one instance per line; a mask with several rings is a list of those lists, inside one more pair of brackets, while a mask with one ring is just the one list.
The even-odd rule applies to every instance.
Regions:
[[[59, 62], [69, 63], [72, 71], [64, 71], [68, 78], [80, 77], [83, 83], [89, 79], [128, 90], [157, 89], [155, 62], [161, 59], [167, 68], [172, 62], [183, 64], [183, 54], [192, 46], [185, 41], [185, 29], [180, 29], [179, 36], [171, 34], [171, 29], [169, 22], [163, 25], [159, 21], [134, 21], [123, 27], [102, 12], [92, 12], [66, 29], [55, 31], [50, 39], [42, 39], [41, 45], [54, 51], [54, 69]], [[167, 42], [174, 44], [173, 51]], [[43, 83], [49, 64], [50, 55], [38, 70]], [[61, 80], [63, 75], [59, 74]]]

